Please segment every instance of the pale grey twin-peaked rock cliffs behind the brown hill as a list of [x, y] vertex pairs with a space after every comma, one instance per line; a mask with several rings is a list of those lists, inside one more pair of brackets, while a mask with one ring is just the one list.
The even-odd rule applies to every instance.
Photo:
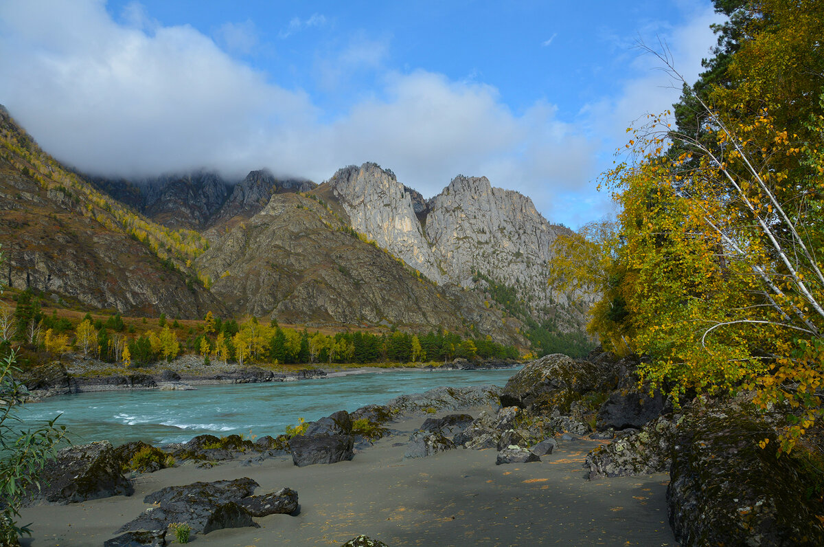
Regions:
[[471, 288], [479, 271], [516, 289], [536, 318], [583, 327], [586, 295], [547, 289], [556, 232], [527, 196], [493, 188], [486, 177], [458, 176], [424, 201], [374, 163], [340, 169], [328, 185], [354, 229], [429, 279]]

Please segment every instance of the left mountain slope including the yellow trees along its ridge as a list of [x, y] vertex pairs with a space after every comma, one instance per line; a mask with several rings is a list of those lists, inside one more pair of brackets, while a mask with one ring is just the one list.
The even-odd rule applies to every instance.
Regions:
[[205, 246], [102, 195], [43, 153], [0, 107], [5, 281], [126, 314], [202, 317], [223, 306], [185, 261]]

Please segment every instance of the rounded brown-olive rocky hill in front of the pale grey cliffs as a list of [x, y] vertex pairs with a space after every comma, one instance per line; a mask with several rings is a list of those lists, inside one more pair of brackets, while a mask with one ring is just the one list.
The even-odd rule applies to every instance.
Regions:
[[274, 195], [197, 262], [216, 280], [213, 293], [234, 314], [310, 326], [474, 329], [502, 342], [525, 343], [519, 323], [486, 309], [477, 295], [439, 289], [348, 228], [346, 219], [316, 200]]

